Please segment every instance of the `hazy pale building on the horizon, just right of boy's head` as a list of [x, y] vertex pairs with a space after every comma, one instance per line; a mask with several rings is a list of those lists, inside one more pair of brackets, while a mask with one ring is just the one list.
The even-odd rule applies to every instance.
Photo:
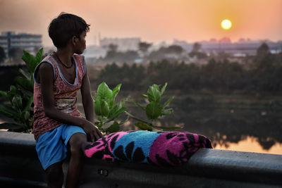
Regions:
[[101, 47], [106, 48], [109, 44], [116, 44], [118, 51], [128, 51], [139, 49], [140, 38], [103, 38], [100, 39], [99, 44]]

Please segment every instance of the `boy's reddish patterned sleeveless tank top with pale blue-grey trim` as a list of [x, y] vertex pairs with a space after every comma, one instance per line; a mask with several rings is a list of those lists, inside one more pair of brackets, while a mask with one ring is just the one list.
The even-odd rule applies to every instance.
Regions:
[[85, 75], [85, 58], [77, 54], [73, 55], [73, 60], [75, 62], [75, 81], [74, 83], [69, 83], [59, 68], [59, 64], [56, 62], [55, 58], [51, 55], [47, 56], [40, 62], [35, 68], [34, 73], [34, 113], [35, 120], [33, 123], [33, 134], [37, 140], [41, 134], [53, 130], [56, 127], [59, 127], [62, 123], [51, 119], [45, 115], [44, 106], [42, 101], [42, 93], [39, 82], [36, 80], [36, 75], [39, 69], [39, 65], [42, 63], [49, 63], [52, 65], [54, 71], [54, 106], [59, 111], [63, 113], [68, 113], [69, 115], [74, 115], [81, 117], [80, 112], [77, 108], [77, 92], [81, 87], [82, 78]]

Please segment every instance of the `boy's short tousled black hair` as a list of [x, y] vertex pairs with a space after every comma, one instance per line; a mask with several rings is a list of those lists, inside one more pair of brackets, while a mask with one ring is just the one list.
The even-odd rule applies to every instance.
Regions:
[[89, 24], [78, 15], [70, 13], [61, 13], [58, 18], [51, 21], [48, 32], [57, 48], [65, 47], [71, 37], [75, 36], [80, 39], [82, 32], [89, 32]]

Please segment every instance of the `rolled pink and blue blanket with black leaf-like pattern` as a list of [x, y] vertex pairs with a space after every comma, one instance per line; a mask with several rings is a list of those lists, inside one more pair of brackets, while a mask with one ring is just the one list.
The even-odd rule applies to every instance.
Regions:
[[88, 158], [130, 161], [153, 165], [180, 165], [200, 148], [212, 148], [211, 141], [190, 132], [114, 132], [84, 146]]

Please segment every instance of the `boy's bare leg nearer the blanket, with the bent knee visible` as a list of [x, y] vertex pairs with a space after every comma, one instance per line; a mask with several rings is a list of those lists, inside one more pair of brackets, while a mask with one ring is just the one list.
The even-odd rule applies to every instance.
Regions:
[[66, 188], [78, 187], [78, 180], [83, 168], [82, 143], [87, 142], [87, 137], [83, 133], [75, 133], [71, 136], [69, 144], [71, 146], [71, 160], [68, 165], [66, 177]]

